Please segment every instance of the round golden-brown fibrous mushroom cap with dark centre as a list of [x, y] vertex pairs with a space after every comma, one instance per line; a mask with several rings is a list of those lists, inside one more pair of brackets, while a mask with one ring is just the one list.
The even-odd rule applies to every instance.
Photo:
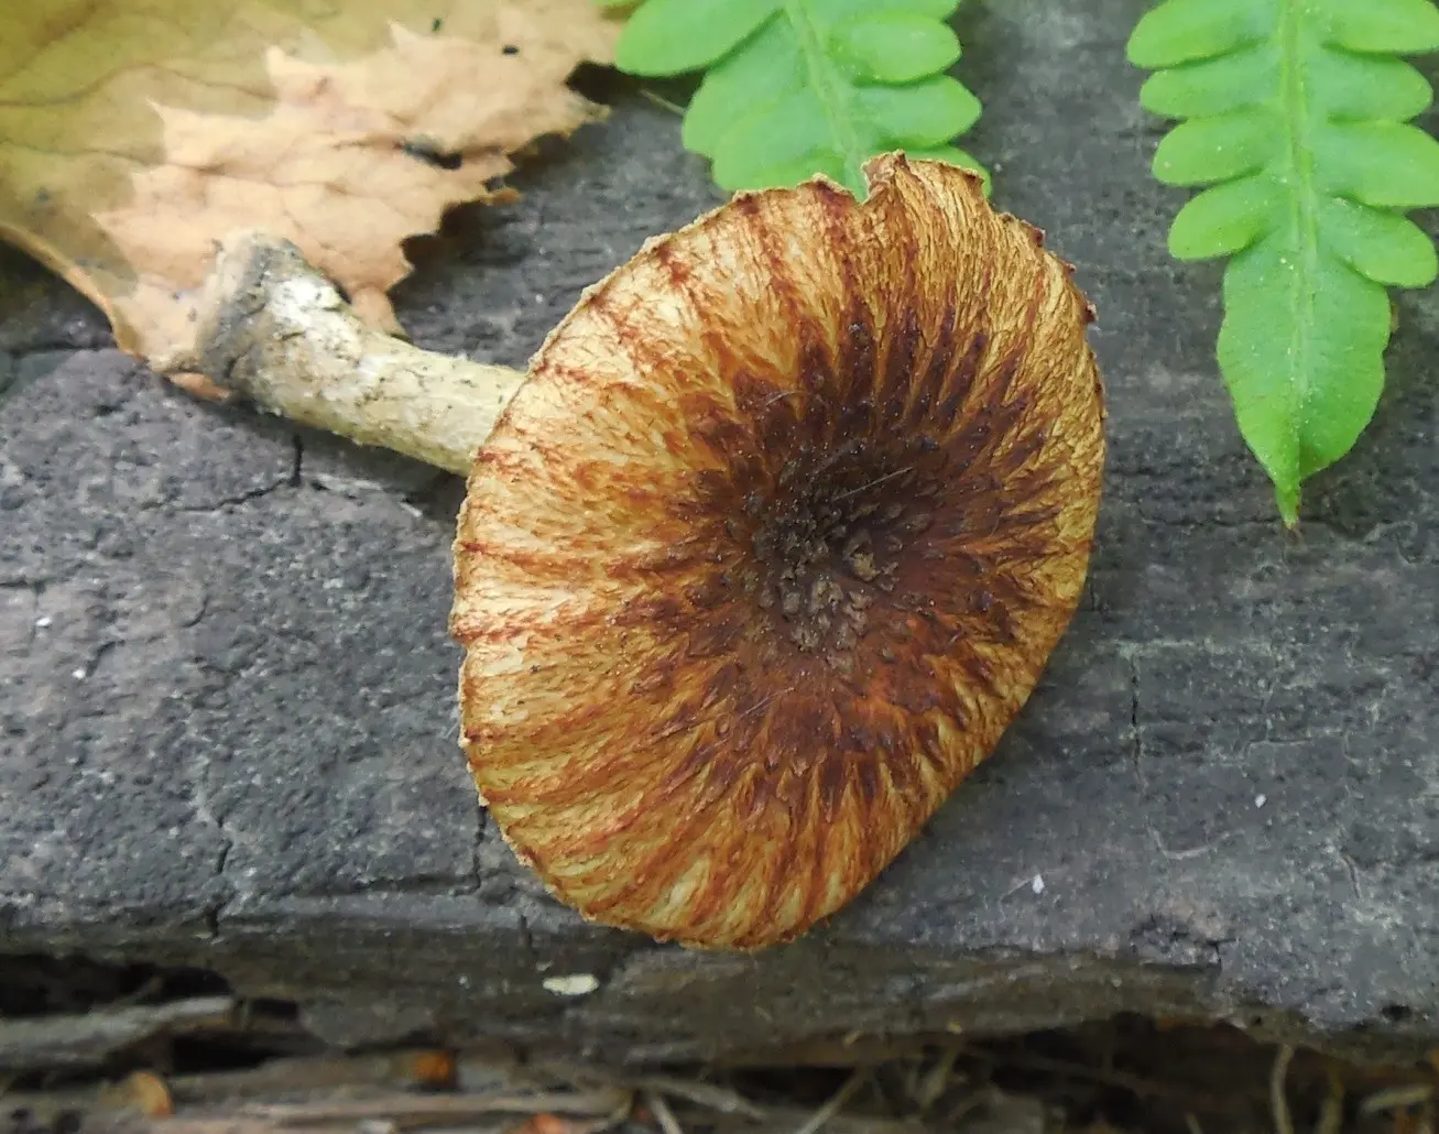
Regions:
[[584, 917], [696, 947], [849, 902], [994, 747], [1079, 593], [1094, 311], [979, 178], [741, 193], [584, 292], [475, 459], [462, 747]]

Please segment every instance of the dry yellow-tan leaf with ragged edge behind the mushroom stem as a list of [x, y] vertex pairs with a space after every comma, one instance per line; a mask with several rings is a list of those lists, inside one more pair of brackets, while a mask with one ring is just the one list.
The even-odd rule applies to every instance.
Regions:
[[[36, 10], [30, 10], [36, 9]], [[509, 155], [603, 114], [566, 86], [613, 58], [593, 0], [50, 0], [0, 36], [0, 236], [184, 368], [235, 229], [292, 240], [397, 331], [400, 242], [494, 187]], [[437, 158], [437, 160], [436, 160]]]

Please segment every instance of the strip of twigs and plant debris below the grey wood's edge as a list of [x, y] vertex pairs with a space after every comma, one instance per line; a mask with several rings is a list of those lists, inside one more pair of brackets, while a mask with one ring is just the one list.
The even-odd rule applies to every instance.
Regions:
[[[252, 1059], [174, 1003], [108, 1069], [0, 1079], [3, 1134], [1435, 1134], [1439, 1066], [1357, 1065], [1226, 1025], [1120, 1017], [1006, 1039], [855, 1038], [625, 1069], [496, 1049]], [[118, 1036], [96, 1013], [63, 1017]], [[105, 1013], [101, 1012], [101, 1016]], [[35, 1020], [0, 1019], [6, 1029]], [[265, 1035], [281, 1036], [271, 1020]], [[299, 1038], [292, 1038], [301, 1046]], [[285, 1045], [281, 1043], [279, 1048]], [[79, 1049], [79, 1048], [78, 1048]], [[137, 1052], [144, 1052], [142, 1056]], [[848, 1055], [848, 1061], [845, 1053]], [[13, 1055], [12, 1055], [13, 1058]], [[137, 1058], [148, 1065], [132, 1065]], [[194, 1063], [210, 1066], [191, 1066]], [[229, 1063], [226, 1066], [226, 1063]]]

